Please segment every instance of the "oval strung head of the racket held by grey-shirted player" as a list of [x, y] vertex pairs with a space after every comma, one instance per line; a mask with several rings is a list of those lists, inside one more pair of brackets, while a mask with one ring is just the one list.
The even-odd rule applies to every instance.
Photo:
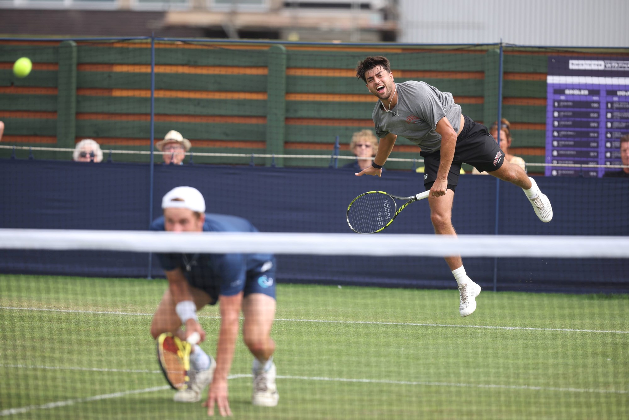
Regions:
[[347, 221], [357, 232], [373, 233], [391, 221], [395, 208], [395, 201], [389, 195], [365, 194], [357, 198], [348, 208]]

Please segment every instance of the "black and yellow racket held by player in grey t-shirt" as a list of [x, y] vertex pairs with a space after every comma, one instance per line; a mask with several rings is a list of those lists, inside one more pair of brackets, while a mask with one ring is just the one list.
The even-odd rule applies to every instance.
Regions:
[[[413, 201], [428, 197], [430, 190], [410, 197], [399, 197], [384, 191], [368, 191], [354, 198], [347, 207], [347, 224], [359, 234], [381, 232]], [[398, 208], [395, 200], [407, 200]]]

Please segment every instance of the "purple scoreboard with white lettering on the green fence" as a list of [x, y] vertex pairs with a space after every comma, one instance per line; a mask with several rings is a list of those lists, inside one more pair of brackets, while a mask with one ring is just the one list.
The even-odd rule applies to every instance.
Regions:
[[[603, 176], [629, 134], [629, 59], [548, 57], [547, 176]], [[613, 169], [618, 171], [618, 169]]]

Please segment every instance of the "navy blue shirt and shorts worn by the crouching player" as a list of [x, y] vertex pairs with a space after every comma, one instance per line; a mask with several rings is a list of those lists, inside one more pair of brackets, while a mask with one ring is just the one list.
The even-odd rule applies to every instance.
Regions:
[[[164, 216], [153, 220], [150, 230], [164, 231]], [[203, 232], [258, 230], [242, 217], [206, 213]], [[269, 262], [275, 271], [273, 254], [157, 254], [157, 258], [164, 271], [181, 268], [191, 286], [215, 298], [219, 294], [233, 296], [245, 290], [247, 281], [257, 280], [257, 275], [269, 270]], [[264, 271], [261, 271], [263, 266]]]

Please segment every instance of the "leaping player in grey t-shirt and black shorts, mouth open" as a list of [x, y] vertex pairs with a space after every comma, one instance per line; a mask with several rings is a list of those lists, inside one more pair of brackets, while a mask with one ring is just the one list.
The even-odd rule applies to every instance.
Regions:
[[[357, 176], [381, 176], [382, 166], [401, 135], [421, 147], [424, 186], [430, 190], [428, 203], [435, 233], [456, 234], [451, 220], [452, 200], [462, 162], [522, 188], [535, 214], [542, 222], [550, 222], [550, 200], [542, 194], [535, 180], [526, 176], [520, 166], [504, 161], [504, 152], [489, 135], [487, 127], [462, 115], [451, 93], [440, 92], [425, 82], [395, 83], [389, 60], [381, 56], [362, 60], [356, 75], [379, 99], [372, 118], [376, 135], [381, 139], [372, 166]], [[476, 310], [481, 287], [465, 274], [460, 256], [448, 256], [445, 261], [459, 285], [459, 312], [466, 317]]]

